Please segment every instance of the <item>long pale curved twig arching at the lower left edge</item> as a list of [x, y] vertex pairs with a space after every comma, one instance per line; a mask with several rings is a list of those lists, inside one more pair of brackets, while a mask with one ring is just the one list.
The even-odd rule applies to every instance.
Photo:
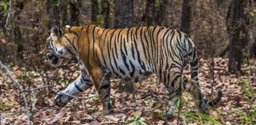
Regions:
[[2, 64], [1, 60], [0, 60], [0, 69], [2, 69], [3, 72], [5, 72], [6, 75], [11, 79], [11, 81], [13, 81], [19, 87], [20, 93], [22, 94], [22, 98], [23, 98], [23, 101], [25, 103], [25, 107], [26, 107], [26, 110], [27, 110], [27, 124], [30, 125], [30, 110], [28, 109], [27, 98], [26, 98], [26, 95], [24, 94], [23, 87], [13, 77], [11, 71], [5, 65]]

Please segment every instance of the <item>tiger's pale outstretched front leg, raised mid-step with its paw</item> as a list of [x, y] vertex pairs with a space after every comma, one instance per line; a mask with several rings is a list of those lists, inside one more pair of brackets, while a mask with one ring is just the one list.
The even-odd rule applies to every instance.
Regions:
[[68, 95], [76, 95], [89, 89], [92, 86], [92, 82], [90, 81], [90, 77], [86, 72], [80, 73], [80, 76], [72, 82], [72, 84], [68, 85], [68, 87], [61, 91], [62, 93], [58, 92], [57, 95], [54, 97], [54, 103], [56, 106], [64, 107], [67, 103], [72, 99]]

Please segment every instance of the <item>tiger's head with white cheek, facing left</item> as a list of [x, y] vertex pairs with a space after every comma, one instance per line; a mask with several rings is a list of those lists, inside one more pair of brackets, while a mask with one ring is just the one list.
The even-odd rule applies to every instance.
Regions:
[[[65, 28], [68, 28], [65, 26]], [[67, 63], [71, 59], [75, 59], [72, 53], [71, 44], [68, 42], [67, 36], [64, 37], [63, 28], [53, 26], [50, 31], [50, 36], [47, 38], [47, 53], [44, 59], [53, 67], [58, 67]]]

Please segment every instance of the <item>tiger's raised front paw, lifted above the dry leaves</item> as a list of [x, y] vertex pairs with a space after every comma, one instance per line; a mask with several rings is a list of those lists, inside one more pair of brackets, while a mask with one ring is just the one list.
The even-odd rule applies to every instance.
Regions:
[[54, 104], [58, 107], [64, 107], [71, 99], [72, 98], [68, 97], [67, 95], [57, 93], [57, 95], [54, 97]]

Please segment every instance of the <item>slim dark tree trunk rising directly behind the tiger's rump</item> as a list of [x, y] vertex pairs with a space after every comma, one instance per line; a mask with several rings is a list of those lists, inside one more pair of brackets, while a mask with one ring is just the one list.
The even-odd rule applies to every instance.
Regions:
[[190, 0], [183, 0], [182, 5], [182, 18], [181, 18], [181, 28], [180, 30], [185, 32], [185, 34], [190, 34], [191, 26], [191, 5]]

